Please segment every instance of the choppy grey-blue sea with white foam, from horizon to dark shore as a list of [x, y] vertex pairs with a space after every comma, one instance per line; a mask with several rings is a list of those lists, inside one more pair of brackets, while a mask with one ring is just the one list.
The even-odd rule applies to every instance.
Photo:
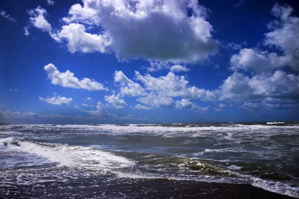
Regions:
[[[119, 187], [147, 179], [299, 198], [299, 122], [0, 127], [0, 197], [76, 198], [88, 187], [94, 198], [126, 198]], [[151, 189], [144, 183], [135, 196]]]

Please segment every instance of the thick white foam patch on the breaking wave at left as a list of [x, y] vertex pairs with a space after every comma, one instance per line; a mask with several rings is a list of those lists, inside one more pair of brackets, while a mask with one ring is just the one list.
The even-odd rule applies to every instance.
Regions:
[[7, 138], [5, 141], [9, 143], [8, 147], [39, 155], [52, 162], [57, 162], [59, 166], [105, 170], [130, 167], [135, 164], [127, 158], [91, 147], [27, 141], [17, 141], [19, 147], [15, 147], [13, 144], [10, 144], [11, 142], [16, 142], [14, 138]]

